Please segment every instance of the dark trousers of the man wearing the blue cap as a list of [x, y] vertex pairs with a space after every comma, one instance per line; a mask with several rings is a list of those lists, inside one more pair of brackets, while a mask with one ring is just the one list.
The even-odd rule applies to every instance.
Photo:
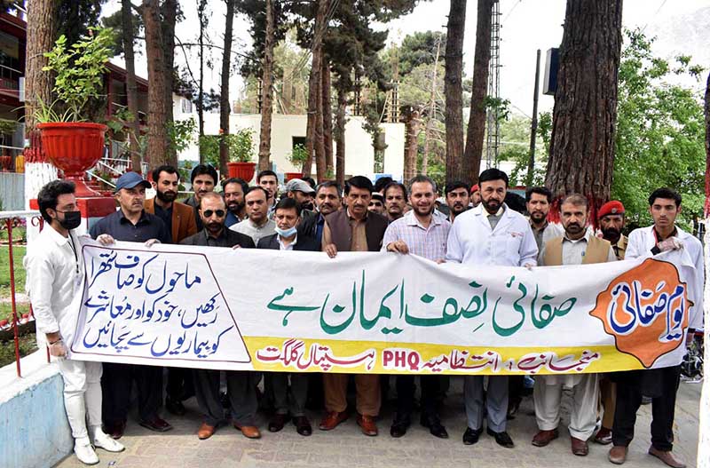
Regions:
[[133, 380], [138, 386], [138, 416], [148, 421], [158, 416], [162, 401], [162, 368], [135, 364], [104, 363], [101, 378], [104, 424], [122, 424], [130, 409]]

